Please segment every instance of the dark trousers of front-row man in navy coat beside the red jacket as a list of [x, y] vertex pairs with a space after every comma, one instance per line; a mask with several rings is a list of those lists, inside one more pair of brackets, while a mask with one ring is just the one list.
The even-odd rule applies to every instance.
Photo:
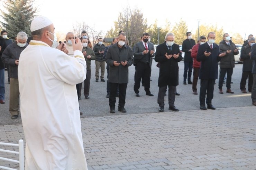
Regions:
[[199, 95], [200, 105], [205, 104], [205, 95], [207, 95], [206, 104], [210, 104], [212, 102], [214, 83], [215, 83], [215, 79], [201, 79], [200, 95]]

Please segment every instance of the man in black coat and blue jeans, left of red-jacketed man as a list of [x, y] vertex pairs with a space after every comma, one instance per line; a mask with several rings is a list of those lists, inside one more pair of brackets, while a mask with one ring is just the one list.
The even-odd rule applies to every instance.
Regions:
[[[192, 47], [195, 45], [195, 40], [192, 39], [191, 32], [186, 33], [187, 39], [185, 39], [182, 43], [182, 50], [185, 52], [184, 55], [184, 73], [183, 73], [183, 84], [186, 83], [187, 74], [188, 74], [188, 83], [192, 84], [191, 75], [193, 69], [193, 59], [191, 58]], [[189, 70], [189, 72], [188, 72]]]

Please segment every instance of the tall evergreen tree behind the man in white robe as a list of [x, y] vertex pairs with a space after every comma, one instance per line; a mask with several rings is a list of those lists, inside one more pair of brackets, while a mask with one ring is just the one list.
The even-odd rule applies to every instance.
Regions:
[[6, 0], [3, 5], [7, 12], [1, 9], [0, 22], [2, 27], [8, 31], [8, 36], [15, 38], [17, 33], [24, 31], [31, 36], [30, 23], [35, 17], [36, 9], [33, 8], [34, 0]]

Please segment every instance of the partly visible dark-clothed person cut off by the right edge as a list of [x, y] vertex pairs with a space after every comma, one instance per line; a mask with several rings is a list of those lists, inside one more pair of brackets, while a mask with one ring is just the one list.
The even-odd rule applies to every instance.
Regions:
[[256, 44], [253, 44], [251, 48], [251, 60], [253, 61], [253, 88], [252, 88], [252, 101], [253, 105], [256, 106]]

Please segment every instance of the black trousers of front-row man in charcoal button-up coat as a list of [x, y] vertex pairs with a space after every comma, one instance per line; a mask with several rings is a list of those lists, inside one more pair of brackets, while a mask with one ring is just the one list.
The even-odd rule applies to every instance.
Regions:
[[109, 107], [116, 106], [116, 94], [117, 88], [119, 87], [119, 102], [118, 106], [125, 106], [126, 88], [127, 83], [109, 83], [110, 84], [110, 94], [109, 94]]

